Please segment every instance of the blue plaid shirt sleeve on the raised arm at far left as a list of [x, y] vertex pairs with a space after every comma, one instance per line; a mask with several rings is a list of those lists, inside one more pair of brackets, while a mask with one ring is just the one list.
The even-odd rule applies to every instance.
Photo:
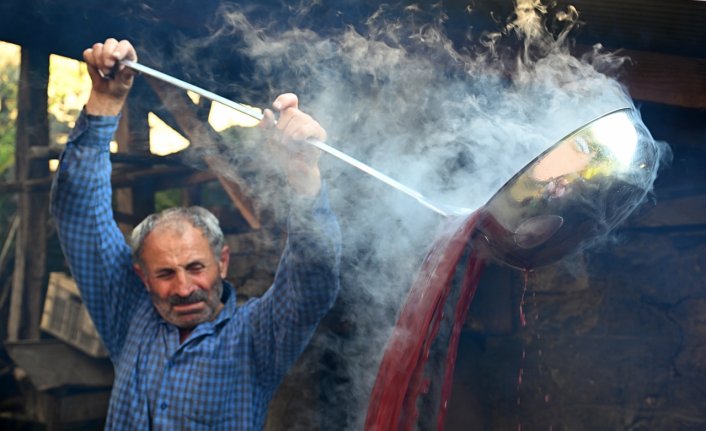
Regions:
[[118, 117], [82, 112], [60, 159], [51, 191], [59, 242], [103, 343], [119, 354], [135, 304], [146, 295], [113, 218], [110, 141]]

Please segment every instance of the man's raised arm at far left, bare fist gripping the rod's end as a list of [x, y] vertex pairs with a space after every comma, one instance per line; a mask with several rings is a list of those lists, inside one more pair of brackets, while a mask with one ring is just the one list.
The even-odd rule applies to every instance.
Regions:
[[[113, 219], [110, 141], [133, 81], [117, 61], [136, 59], [128, 41], [108, 39], [83, 53], [91, 94], [61, 155], [51, 193], [59, 241], [84, 303], [115, 356], [122, 346], [131, 304], [145, 295], [131, 270], [131, 253]], [[104, 76], [112, 74], [112, 79]]]

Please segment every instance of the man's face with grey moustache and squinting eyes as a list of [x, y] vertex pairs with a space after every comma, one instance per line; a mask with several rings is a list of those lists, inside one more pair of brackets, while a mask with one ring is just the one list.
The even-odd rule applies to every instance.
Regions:
[[143, 267], [135, 270], [164, 320], [192, 329], [223, 308], [228, 247], [216, 258], [201, 230], [188, 222], [157, 227], [145, 239]]

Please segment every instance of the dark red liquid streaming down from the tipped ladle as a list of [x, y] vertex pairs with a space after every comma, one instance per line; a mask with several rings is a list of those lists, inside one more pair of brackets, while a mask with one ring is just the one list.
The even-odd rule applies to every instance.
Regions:
[[[416, 403], [426, 392], [423, 376], [429, 349], [438, 334], [451, 280], [473, 233], [478, 212], [465, 220], [451, 220], [424, 259], [388, 342], [368, 404], [365, 429], [370, 431], [412, 430], [417, 421]], [[459, 336], [468, 307], [476, 291], [484, 261], [473, 251], [456, 304], [454, 324], [446, 357], [441, 389], [438, 427], [444, 415], [456, 361]]]

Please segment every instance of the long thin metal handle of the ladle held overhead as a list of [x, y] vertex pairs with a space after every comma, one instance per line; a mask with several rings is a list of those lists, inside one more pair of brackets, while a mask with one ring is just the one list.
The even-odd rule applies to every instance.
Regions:
[[[130, 69], [143, 73], [145, 75], [151, 76], [153, 78], [157, 78], [161, 81], [167, 82], [175, 87], [179, 87], [183, 90], [186, 91], [191, 91], [194, 92], [200, 96], [203, 96], [209, 100], [212, 100], [214, 102], [218, 102], [224, 106], [227, 106], [229, 108], [232, 108], [242, 114], [245, 114], [251, 118], [254, 118], [258, 121], [262, 121], [264, 118], [264, 115], [262, 112], [258, 109], [253, 109], [249, 106], [243, 105], [238, 102], [234, 102], [230, 99], [226, 99], [225, 97], [219, 96], [216, 93], [212, 93], [208, 90], [204, 90], [201, 87], [197, 87], [193, 84], [189, 84], [188, 82], [182, 81], [181, 79], [177, 79], [173, 76], [167, 75], [166, 73], [162, 73], [158, 70], [152, 69], [150, 67], [147, 67], [143, 64], [137, 63], [135, 61], [131, 60], [122, 60], [120, 62], [121, 64], [129, 67]], [[400, 192], [413, 197], [416, 199], [420, 204], [424, 205], [425, 207], [429, 208], [430, 210], [441, 214], [442, 216], [449, 216], [452, 214], [464, 214], [464, 213], [469, 213], [471, 210], [466, 209], [466, 208], [448, 208], [448, 209], [441, 209], [438, 205], [433, 204], [430, 202], [427, 198], [425, 198], [421, 193], [405, 186], [404, 184], [388, 177], [387, 175], [383, 174], [382, 172], [366, 165], [365, 163], [347, 155], [346, 153], [343, 153], [317, 139], [307, 139], [307, 143], [315, 146], [316, 148], [320, 149], [321, 151], [324, 151], [334, 157], [336, 157], [339, 160], [342, 160], [349, 165], [365, 172], [366, 174], [377, 178], [378, 180], [384, 182], [385, 184], [393, 187], [396, 190], [399, 190]]]

